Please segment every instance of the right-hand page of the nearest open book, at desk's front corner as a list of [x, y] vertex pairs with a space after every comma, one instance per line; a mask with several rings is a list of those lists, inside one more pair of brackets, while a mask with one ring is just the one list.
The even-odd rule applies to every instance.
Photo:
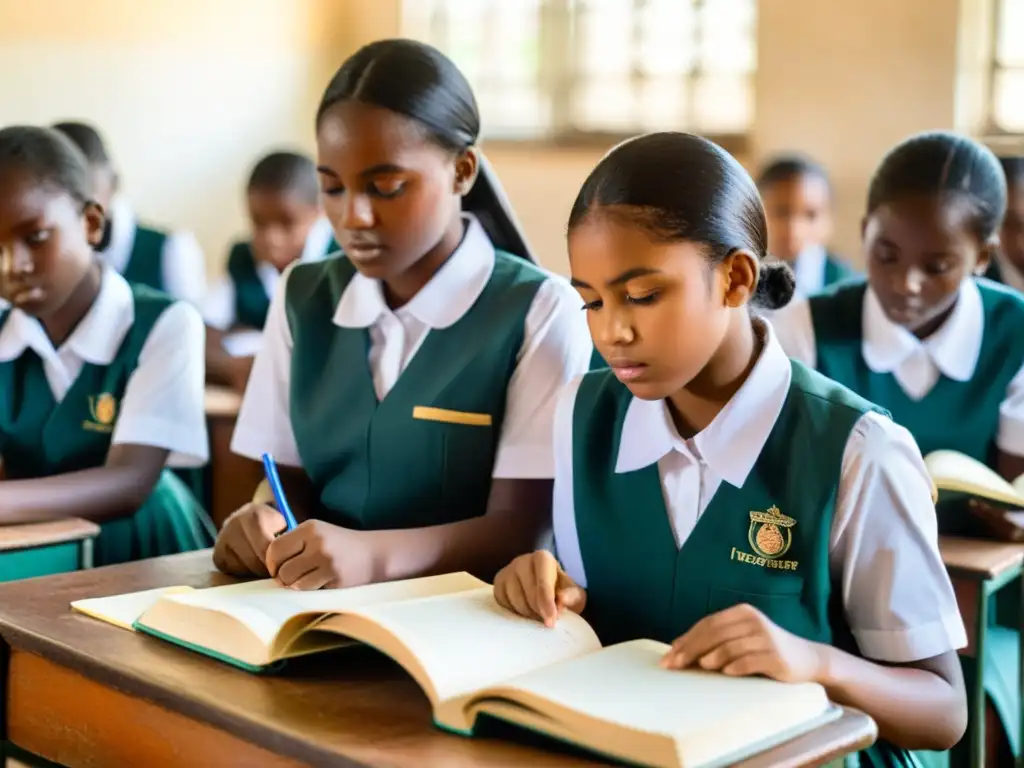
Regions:
[[[482, 712], [487, 711], [485, 698], [495, 693], [528, 701], [527, 706], [562, 721], [585, 744], [629, 738], [612, 728], [669, 736], [683, 765], [720, 759], [741, 743], [770, 739], [829, 709], [824, 688], [815, 683], [663, 670], [658, 663], [668, 649], [653, 640], [621, 643], [526, 673], [480, 691], [473, 700], [484, 699], [479, 705]], [[510, 696], [509, 691], [529, 696]], [[557, 709], [545, 712], [549, 703]]]

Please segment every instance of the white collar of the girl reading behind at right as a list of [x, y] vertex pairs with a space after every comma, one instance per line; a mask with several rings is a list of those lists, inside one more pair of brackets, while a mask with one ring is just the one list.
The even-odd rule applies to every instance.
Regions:
[[861, 352], [874, 373], [888, 374], [919, 350], [925, 350], [939, 372], [953, 381], [974, 376], [985, 333], [985, 310], [981, 293], [973, 279], [961, 283], [956, 305], [934, 334], [922, 341], [902, 326], [890, 321], [868, 288], [864, 295]]

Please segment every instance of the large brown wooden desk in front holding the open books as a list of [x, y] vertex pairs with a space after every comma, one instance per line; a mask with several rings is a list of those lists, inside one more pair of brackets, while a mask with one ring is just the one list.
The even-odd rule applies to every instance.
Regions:
[[[68, 607], [82, 597], [227, 581], [212, 571], [207, 551], [0, 588], [6, 737], [70, 768], [599, 765], [554, 749], [442, 733], [419, 687], [370, 651], [330, 666], [308, 658], [287, 677], [256, 676]], [[848, 711], [742, 765], [822, 765], [874, 736], [870, 719]]]

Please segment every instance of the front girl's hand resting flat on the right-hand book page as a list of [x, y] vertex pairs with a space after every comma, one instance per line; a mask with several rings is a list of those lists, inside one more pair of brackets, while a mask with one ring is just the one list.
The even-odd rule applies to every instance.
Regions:
[[701, 618], [662, 659], [669, 670], [699, 667], [784, 683], [820, 681], [823, 666], [817, 643], [786, 632], [745, 603]]

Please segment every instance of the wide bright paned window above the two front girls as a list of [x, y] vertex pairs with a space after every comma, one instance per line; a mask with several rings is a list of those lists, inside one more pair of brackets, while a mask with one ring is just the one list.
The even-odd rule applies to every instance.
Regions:
[[469, 78], [497, 138], [740, 136], [756, 0], [407, 0], [404, 31]]

